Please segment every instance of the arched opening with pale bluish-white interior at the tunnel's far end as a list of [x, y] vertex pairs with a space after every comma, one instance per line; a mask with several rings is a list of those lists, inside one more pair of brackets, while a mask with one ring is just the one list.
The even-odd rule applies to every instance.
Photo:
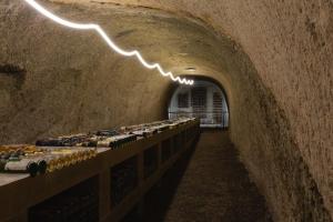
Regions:
[[213, 81], [199, 79], [194, 85], [179, 85], [168, 108], [169, 119], [195, 117], [202, 128], [229, 127], [226, 95]]

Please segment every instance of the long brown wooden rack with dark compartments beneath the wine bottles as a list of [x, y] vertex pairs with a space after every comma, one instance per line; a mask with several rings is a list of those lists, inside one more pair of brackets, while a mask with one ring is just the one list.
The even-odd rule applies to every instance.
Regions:
[[[36, 178], [0, 173], [0, 221], [120, 221], [192, 147], [199, 124], [190, 121], [115, 150], [102, 148], [92, 159]], [[82, 205], [72, 208], [79, 200]], [[53, 208], [65, 220], [48, 218]]]

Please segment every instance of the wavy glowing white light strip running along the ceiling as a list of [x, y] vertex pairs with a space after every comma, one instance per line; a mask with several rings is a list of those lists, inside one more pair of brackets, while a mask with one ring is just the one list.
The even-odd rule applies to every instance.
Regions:
[[95, 30], [101, 37], [102, 39], [108, 43], [108, 46], [113, 49], [114, 51], [117, 51], [118, 53], [124, 56], [124, 57], [137, 57], [139, 59], [139, 61], [148, 69], [152, 70], [152, 69], [157, 69], [159, 70], [159, 72], [164, 75], [164, 77], [170, 77], [173, 81], [178, 81], [181, 84], [193, 84], [194, 81], [193, 80], [186, 80], [185, 78], [180, 78], [180, 77], [174, 77], [172, 74], [172, 72], [165, 72], [162, 67], [159, 63], [148, 63], [142, 56], [140, 54], [140, 52], [138, 50], [133, 50], [133, 51], [125, 51], [121, 48], [119, 48], [109, 37], [108, 34], [103, 31], [103, 29], [99, 26], [99, 24], [94, 24], [94, 23], [87, 23], [87, 24], [82, 24], [82, 23], [74, 23], [71, 21], [67, 21], [60, 17], [57, 17], [56, 14], [53, 14], [52, 12], [48, 11], [46, 8], [43, 8], [42, 6], [40, 6], [39, 3], [37, 3], [34, 0], [24, 0], [27, 3], [29, 3], [32, 8], [34, 8], [38, 12], [40, 12], [41, 14], [43, 14], [44, 17], [53, 20], [54, 22], [62, 24], [64, 27], [69, 27], [72, 29], [80, 29], [80, 30]]

